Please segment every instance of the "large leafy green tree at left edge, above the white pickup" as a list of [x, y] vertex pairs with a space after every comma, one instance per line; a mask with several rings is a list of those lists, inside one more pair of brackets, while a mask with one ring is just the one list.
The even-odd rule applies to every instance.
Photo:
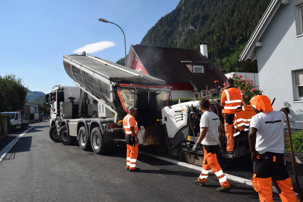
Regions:
[[24, 87], [22, 78], [16, 75], [0, 75], [0, 112], [17, 111], [24, 107], [27, 89]]

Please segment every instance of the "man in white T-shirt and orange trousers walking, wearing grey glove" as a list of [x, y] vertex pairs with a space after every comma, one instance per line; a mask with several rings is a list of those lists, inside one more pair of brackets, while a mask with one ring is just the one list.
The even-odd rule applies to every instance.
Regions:
[[217, 160], [217, 151], [219, 148], [219, 137], [221, 136], [221, 126], [219, 117], [209, 109], [209, 101], [203, 98], [199, 102], [201, 111], [203, 112], [200, 120], [200, 136], [193, 146], [192, 151], [197, 152], [200, 143], [203, 145], [204, 158], [202, 172], [195, 181], [195, 184], [205, 186], [208, 172], [211, 169], [218, 177], [221, 187], [217, 187], [217, 191], [225, 192], [230, 190], [229, 181], [226, 179]]

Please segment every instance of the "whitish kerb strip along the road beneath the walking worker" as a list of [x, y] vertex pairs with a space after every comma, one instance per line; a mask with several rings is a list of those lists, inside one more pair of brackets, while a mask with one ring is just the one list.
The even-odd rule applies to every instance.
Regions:
[[[202, 167], [201, 166], [196, 166], [196, 165], [193, 165], [193, 164], [184, 163], [184, 162], [181, 162], [181, 161], [177, 161], [177, 160], [174, 160], [174, 159], [170, 159], [170, 158], [167, 158], [167, 157], [162, 157], [162, 156], [158, 156], [158, 155], [154, 155], [154, 154], [148, 154], [148, 153], [145, 153], [145, 152], [142, 152], [142, 151], [139, 151], [139, 153], [202, 172]], [[213, 172], [210, 170], [209, 173], [211, 174]], [[247, 185], [252, 186], [251, 180], [248, 180], [248, 179], [245, 179], [245, 178], [242, 178], [242, 177], [237, 177], [237, 176], [230, 175], [230, 174], [226, 174], [226, 173], [224, 173], [224, 174], [225, 174], [225, 176], [228, 180], [233, 180], [233, 181], [236, 181], [236, 182], [240, 182], [242, 184], [247, 184]], [[278, 193], [276, 187], [274, 187], [274, 186], [272, 186], [272, 191], [275, 191], [275, 192]], [[295, 194], [297, 195], [298, 193], [295, 192]]]

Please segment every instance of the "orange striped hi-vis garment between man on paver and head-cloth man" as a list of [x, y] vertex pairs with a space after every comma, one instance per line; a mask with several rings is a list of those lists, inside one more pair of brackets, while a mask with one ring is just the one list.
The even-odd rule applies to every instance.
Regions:
[[241, 111], [235, 112], [234, 136], [240, 134], [240, 131], [248, 131], [251, 117], [255, 114], [256, 112], [252, 109], [251, 105], [242, 106]]

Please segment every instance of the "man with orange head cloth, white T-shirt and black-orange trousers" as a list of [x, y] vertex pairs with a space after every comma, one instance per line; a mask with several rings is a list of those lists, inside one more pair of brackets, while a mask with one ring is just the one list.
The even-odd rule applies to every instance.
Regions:
[[252, 97], [250, 103], [257, 113], [251, 118], [248, 131], [251, 161], [254, 162], [253, 187], [261, 202], [273, 202], [272, 181], [282, 202], [297, 201], [284, 157], [284, 119], [289, 109], [273, 111], [265, 95]]

